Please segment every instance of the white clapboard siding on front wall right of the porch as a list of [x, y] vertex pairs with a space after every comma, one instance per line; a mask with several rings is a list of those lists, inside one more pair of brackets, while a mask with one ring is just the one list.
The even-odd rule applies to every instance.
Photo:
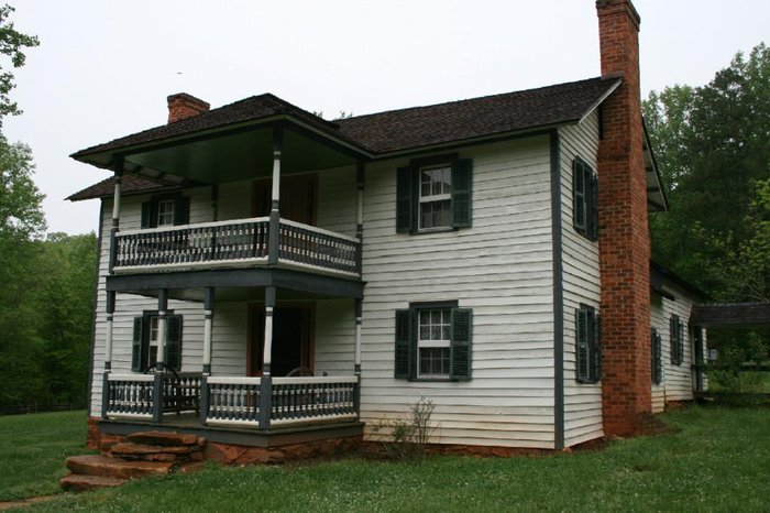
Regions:
[[[396, 233], [396, 170], [366, 166], [361, 416], [372, 427], [433, 402], [431, 441], [552, 448], [553, 295], [549, 138], [462, 151], [474, 161], [473, 227]], [[470, 382], [395, 380], [395, 310], [473, 308]]]

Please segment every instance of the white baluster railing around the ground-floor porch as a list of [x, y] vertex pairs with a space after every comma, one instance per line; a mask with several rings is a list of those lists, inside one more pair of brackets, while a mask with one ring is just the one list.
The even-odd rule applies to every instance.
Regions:
[[258, 428], [354, 421], [358, 376], [240, 378], [199, 373], [105, 374], [102, 417], [161, 422], [197, 412], [207, 425]]

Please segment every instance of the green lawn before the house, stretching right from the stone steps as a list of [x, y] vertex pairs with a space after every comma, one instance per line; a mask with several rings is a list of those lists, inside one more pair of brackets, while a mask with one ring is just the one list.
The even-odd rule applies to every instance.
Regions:
[[616, 441], [602, 451], [432, 457], [413, 463], [348, 459], [211, 466], [194, 476], [62, 495], [24, 511], [770, 510], [770, 408], [691, 407], [664, 419], [678, 432]]

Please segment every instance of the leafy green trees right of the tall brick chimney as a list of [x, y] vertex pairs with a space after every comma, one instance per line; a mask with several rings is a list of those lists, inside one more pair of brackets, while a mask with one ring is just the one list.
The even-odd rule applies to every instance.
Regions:
[[652, 92], [644, 111], [671, 207], [650, 219], [656, 260], [721, 301], [769, 297], [767, 276], [747, 282], [738, 271], [761, 274], [763, 265], [770, 50], [738, 53], [706, 86]]

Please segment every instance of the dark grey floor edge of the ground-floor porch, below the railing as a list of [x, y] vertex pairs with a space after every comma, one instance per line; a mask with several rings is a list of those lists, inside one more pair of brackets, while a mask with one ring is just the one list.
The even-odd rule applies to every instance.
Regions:
[[307, 426], [274, 427], [268, 430], [222, 426], [204, 426], [196, 414], [166, 415], [162, 423], [150, 421], [108, 418], [99, 421], [99, 430], [106, 435], [130, 435], [157, 430], [198, 435], [209, 441], [250, 447], [278, 447], [289, 444], [363, 436], [364, 423], [333, 422]]

